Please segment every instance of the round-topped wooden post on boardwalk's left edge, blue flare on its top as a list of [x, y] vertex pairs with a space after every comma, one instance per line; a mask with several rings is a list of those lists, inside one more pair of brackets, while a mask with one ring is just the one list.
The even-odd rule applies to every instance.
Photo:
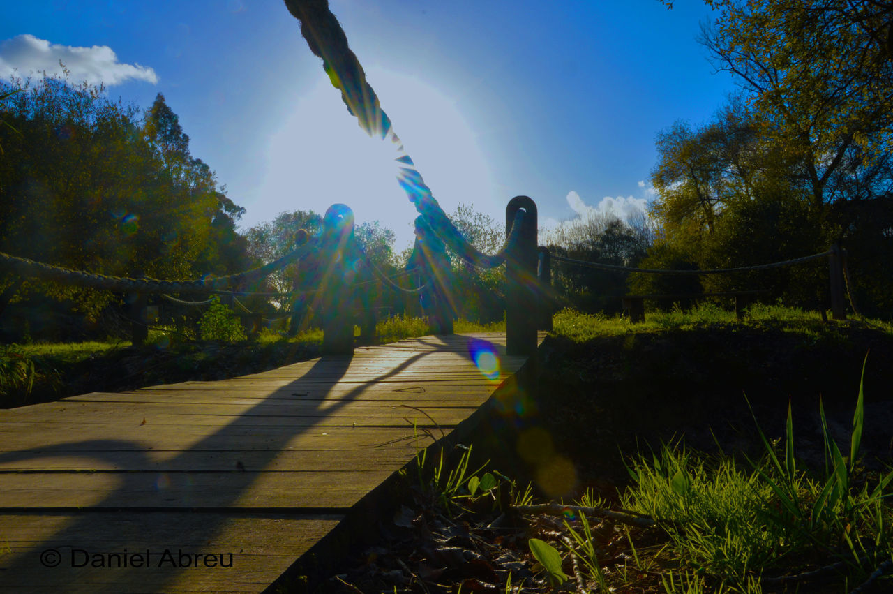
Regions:
[[347, 249], [354, 238], [354, 213], [346, 205], [331, 205], [322, 218], [322, 355], [354, 354], [354, 270]]

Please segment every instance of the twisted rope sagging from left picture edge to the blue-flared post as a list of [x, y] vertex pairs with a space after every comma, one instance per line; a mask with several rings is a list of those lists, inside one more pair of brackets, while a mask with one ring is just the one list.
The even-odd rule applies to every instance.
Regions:
[[119, 276], [106, 276], [92, 272], [81, 272], [35, 262], [28, 258], [9, 255], [0, 252], [0, 268], [7, 268], [21, 276], [33, 276], [42, 280], [55, 280], [68, 282], [80, 287], [91, 289], [104, 289], [120, 292], [137, 293], [220, 293], [240, 295], [238, 291], [224, 291], [223, 287], [230, 287], [239, 283], [251, 283], [261, 280], [280, 268], [299, 260], [319, 247], [319, 238], [313, 237], [300, 247], [286, 255], [265, 264], [254, 270], [199, 280], [157, 280], [157, 279], [130, 279]]

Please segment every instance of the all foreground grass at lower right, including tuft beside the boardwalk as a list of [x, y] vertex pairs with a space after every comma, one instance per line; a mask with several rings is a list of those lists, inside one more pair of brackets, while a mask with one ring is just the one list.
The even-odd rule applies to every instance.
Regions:
[[[789, 407], [782, 439], [770, 441], [756, 424], [764, 447], [759, 459], [708, 456], [679, 441], [633, 456], [630, 485], [616, 504], [631, 520], [604, 513], [605, 501], [591, 491], [577, 506], [559, 503], [563, 529], [530, 518], [530, 526], [519, 528], [528, 534], [531, 570], [538, 573], [539, 586], [529, 591], [555, 591], [565, 582], [575, 583], [574, 591], [889, 591], [893, 471], [861, 468], [863, 381], [845, 452], [823, 423], [821, 468], [797, 461]], [[441, 453], [427, 473], [427, 490], [447, 512], [465, 511], [476, 492], [482, 496], [470, 489], [482, 472], [470, 472], [470, 455], [467, 448], [449, 467]], [[431, 465], [423, 454], [419, 464]], [[486, 474], [485, 480], [489, 489], [503, 481]], [[643, 527], [643, 519], [655, 525]]]

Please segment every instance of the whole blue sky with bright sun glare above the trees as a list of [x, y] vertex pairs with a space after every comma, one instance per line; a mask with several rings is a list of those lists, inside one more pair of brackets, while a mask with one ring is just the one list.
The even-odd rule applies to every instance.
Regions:
[[[350, 205], [412, 238], [392, 154], [366, 137], [277, 0], [7, 3], [0, 77], [58, 70], [146, 108], [161, 92], [190, 150], [246, 207], [240, 227]], [[697, 44], [711, 11], [656, 0], [330, 0], [381, 105], [447, 213], [540, 225], [652, 198], [654, 138], [734, 90]]]

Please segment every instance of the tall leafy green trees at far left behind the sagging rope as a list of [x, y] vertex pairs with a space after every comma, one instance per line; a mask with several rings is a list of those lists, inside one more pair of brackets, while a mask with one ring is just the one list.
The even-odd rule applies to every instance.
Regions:
[[[0, 82], [0, 94], [3, 120], [16, 130], [0, 127], [0, 251], [114, 276], [194, 279], [244, 269], [234, 224], [244, 209], [189, 154], [163, 96], [144, 114], [101, 86], [46, 75]], [[17, 282], [0, 276], [0, 310], [49, 296], [96, 319], [117, 298]]]

